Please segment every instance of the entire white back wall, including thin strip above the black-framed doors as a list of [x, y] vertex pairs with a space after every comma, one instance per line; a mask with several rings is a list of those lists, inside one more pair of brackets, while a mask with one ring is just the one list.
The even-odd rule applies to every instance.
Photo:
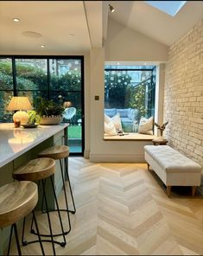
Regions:
[[[143, 146], [151, 142], [104, 141], [104, 64], [105, 61], [159, 61], [167, 60], [167, 47], [140, 33], [110, 22], [105, 48], [93, 48], [91, 53], [43, 52], [44, 54], [85, 56], [85, 157], [92, 162], [143, 162]], [[117, 36], [111, 29], [117, 31]], [[121, 30], [119, 30], [121, 29]], [[115, 35], [113, 37], [113, 35]], [[135, 48], [136, 42], [136, 48]], [[14, 53], [8, 53], [14, 54]], [[34, 53], [15, 53], [34, 54]], [[42, 54], [41, 51], [35, 54]], [[164, 77], [164, 69], [160, 68]], [[160, 79], [162, 81], [162, 79]], [[159, 86], [163, 86], [161, 82]], [[94, 100], [98, 95], [100, 99]], [[161, 100], [162, 101], [162, 100]], [[162, 112], [162, 104], [160, 112]]]

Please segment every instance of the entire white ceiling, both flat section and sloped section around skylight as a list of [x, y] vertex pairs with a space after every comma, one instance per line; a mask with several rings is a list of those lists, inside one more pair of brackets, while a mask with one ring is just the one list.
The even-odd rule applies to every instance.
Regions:
[[[108, 15], [171, 45], [203, 18], [203, 2], [189, 1], [172, 17], [143, 1], [0, 1], [0, 54], [77, 54], [101, 47]], [[13, 22], [14, 17], [21, 21]]]

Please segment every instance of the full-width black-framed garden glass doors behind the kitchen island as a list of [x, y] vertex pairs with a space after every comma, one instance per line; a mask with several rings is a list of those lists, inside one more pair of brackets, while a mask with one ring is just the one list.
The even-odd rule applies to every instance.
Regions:
[[68, 128], [71, 153], [82, 153], [83, 129], [83, 58], [82, 57], [0, 57], [0, 122], [12, 122], [8, 112], [12, 96], [26, 95], [35, 107], [35, 99], [69, 102], [75, 109], [72, 117], [64, 118]]

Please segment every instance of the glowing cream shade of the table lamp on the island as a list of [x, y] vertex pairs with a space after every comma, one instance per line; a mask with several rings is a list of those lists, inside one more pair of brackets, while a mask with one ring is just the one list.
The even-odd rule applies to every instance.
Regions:
[[10, 104], [7, 107], [7, 110], [9, 111], [15, 111], [15, 110], [31, 110], [32, 106], [29, 102], [28, 97], [13, 97], [10, 100]]

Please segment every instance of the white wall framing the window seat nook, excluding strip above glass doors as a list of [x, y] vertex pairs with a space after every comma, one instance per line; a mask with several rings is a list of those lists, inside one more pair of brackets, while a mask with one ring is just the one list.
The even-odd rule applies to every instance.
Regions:
[[[91, 53], [91, 147], [92, 162], [137, 162], [144, 161], [143, 146], [150, 141], [105, 141], [104, 140], [104, 65], [105, 61], [167, 61], [168, 47], [149, 37], [124, 28], [117, 22], [108, 24], [105, 48], [93, 48]], [[136, 48], [135, 48], [136, 45]], [[164, 65], [158, 64], [159, 86], [157, 93], [159, 116], [162, 120]], [[99, 100], [94, 100], [98, 95]], [[160, 96], [161, 95], [161, 96]]]

